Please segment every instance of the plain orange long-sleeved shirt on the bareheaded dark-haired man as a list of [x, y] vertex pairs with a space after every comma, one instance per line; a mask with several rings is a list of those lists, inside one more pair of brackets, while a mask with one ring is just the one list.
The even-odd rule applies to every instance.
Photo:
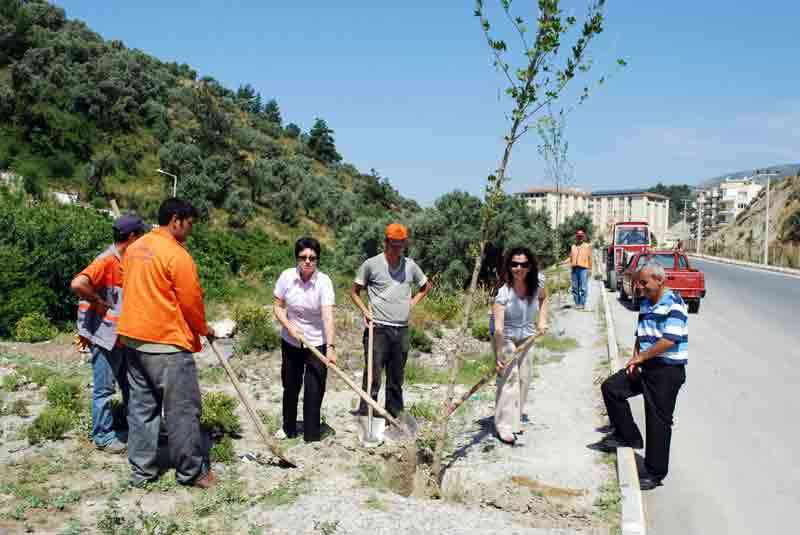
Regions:
[[203, 289], [191, 255], [165, 228], [128, 246], [119, 334], [197, 353], [208, 334]]

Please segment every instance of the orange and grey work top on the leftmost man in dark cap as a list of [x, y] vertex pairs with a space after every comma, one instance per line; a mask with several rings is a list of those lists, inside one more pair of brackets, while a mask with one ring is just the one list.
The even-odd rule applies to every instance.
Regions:
[[117, 322], [122, 310], [121, 260], [119, 250], [112, 244], [78, 273], [87, 277], [95, 292], [113, 305], [101, 318], [92, 303], [78, 301], [78, 334], [109, 351], [117, 343]]

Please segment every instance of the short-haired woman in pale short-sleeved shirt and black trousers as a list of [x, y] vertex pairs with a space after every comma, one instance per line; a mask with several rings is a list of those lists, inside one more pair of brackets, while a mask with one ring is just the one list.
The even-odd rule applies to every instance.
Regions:
[[[317, 270], [320, 246], [314, 238], [300, 238], [294, 246], [297, 267], [281, 273], [275, 283], [275, 317], [281, 330], [283, 432], [297, 435], [297, 401], [303, 392], [303, 438], [320, 440], [320, 408], [328, 369], [305, 344], [313, 345], [336, 363], [334, 293], [331, 279]], [[305, 376], [305, 377], [304, 377]]]

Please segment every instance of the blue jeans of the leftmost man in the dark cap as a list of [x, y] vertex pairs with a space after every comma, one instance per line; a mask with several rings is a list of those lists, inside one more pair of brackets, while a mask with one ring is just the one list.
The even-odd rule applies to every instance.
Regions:
[[128, 354], [124, 347], [109, 351], [98, 345], [92, 346], [92, 440], [103, 447], [117, 438], [114, 432], [114, 415], [111, 413], [111, 397], [115, 383], [122, 391], [122, 404], [128, 406]]

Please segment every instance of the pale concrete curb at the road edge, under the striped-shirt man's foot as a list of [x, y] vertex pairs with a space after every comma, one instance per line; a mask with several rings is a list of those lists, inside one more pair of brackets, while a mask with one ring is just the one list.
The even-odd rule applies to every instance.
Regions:
[[[622, 368], [619, 360], [619, 347], [614, 329], [614, 316], [611, 314], [611, 305], [608, 292], [603, 283], [600, 283], [600, 293], [603, 295], [603, 310], [606, 315], [606, 337], [608, 345], [608, 362], [611, 370], [617, 372]], [[647, 533], [647, 522], [644, 517], [644, 500], [639, 487], [639, 471], [636, 468], [636, 457], [632, 448], [617, 448], [617, 480], [619, 492], [622, 497], [620, 527], [622, 535], [644, 535]]]

